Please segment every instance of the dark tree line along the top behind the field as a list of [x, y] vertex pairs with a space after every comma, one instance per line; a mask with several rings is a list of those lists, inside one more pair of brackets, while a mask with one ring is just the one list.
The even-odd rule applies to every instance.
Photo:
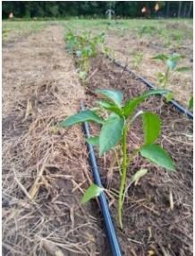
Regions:
[[3, 19], [8, 18], [10, 13], [13, 13], [15, 18], [72, 16], [96, 18], [106, 17], [107, 10], [113, 10], [115, 18], [193, 17], [193, 1], [3, 1], [2, 3]]

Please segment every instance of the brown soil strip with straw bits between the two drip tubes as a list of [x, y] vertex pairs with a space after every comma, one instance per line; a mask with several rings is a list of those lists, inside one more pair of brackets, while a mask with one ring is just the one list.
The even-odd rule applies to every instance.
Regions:
[[[91, 61], [92, 75], [88, 87], [88, 104], [95, 106], [95, 89], [122, 90], [130, 99], [147, 90], [134, 77], [105, 58]], [[140, 107], [152, 110], [162, 119], [162, 134], [158, 143], [172, 155], [176, 172], [162, 168], [136, 156], [129, 167], [131, 175], [140, 168], [148, 174], [137, 186], [131, 185], [123, 207], [123, 231], [117, 230], [124, 255], [192, 255], [192, 121], [160, 97], [152, 97]], [[142, 128], [138, 120], [128, 137], [129, 151], [141, 144]], [[98, 128], [92, 126], [91, 134]], [[119, 172], [113, 153], [99, 159], [102, 179], [108, 190], [118, 190]], [[127, 183], [128, 183], [127, 182]], [[171, 208], [172, 199], [174, 208]], [[111, 207], [116, 222], [117, 200]], [[149, 254], [150, 253], [150, 254]], [[153, 253], [153, 254], [152, 254]]]

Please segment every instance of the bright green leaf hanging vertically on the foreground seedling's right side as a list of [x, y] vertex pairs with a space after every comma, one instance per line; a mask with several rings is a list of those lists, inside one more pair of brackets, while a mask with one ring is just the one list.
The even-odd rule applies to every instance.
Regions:
[[143, 113], [144, 144], [151, 144], [157, 140], [161, 130], [161, 120], [151, 112]]

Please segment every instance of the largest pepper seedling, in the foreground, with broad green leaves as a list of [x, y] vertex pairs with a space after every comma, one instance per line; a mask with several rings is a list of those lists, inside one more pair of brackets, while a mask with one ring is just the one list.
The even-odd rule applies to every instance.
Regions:
[[[127, 171], [133, 157], [136, 154], [140, 154], [149, 161], [156, 163], [169, 171], [175, 170], [174, 163], [169, 154], [166, 153], [165, 149], [156, 144], [157, 137], [161, 130], [161, 121], [157, 114], [142, 110], [136, 112], [140, 103], [144, 102], [149, 96], [160, 93], [166, 94], [167, 91], [149, 91], [148, 93], [143, 93], [124, 103], [123, 93], [120, 91], [97, 90], [96, 93], [106, 98], [106, 101], [97, 102], [99, 107], [96, 111], [94, 109], [82, 110], [78, 114], [64, 119], [64, 121], [60, 123], [60, 126], [65, 128], [85, 121], [96, 122], [101, 126], [100, 134], [97, 137], [88, 138], [87, 141], [89, 144], [99, 147], [99, 155], [102, 156], [115, 146], [120, 147], [120, 152], [122, 152], [122, 164], [120, 166], [121, 181], [118, 199], [118, 222], [120, 227], [123, 228], [122, 209], [126, 192]], [[105, 116], [105, 111], [108, 114], [107, 119], [102, 118]], [[131, 153], [129, 153], [127, 150], [127, 134], [132, 123], [140, 116], [143, 120], [144, 141], [142, 145], [137, 146]], [[146, 172], [146, 169], [142, 169], [137, 175], [134, 174], [132, 176], [132, 182], [137, 183], [140, 177], [146, 174]], [[84, 194], [82, 202], [97, 197], [102, 190], [103, 188], [99, 188], [97, 185], [92, 184]]]

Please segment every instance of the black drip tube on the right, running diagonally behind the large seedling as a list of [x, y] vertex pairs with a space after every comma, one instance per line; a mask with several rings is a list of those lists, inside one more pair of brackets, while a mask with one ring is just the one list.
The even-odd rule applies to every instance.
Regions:
[[[131, 71], [130, 68], [128, 68], [127, 66], [123, 66], [119, 61], [116, 61], [115, 59], [109, 57], [109, 56], [106, 56], [109, 60], [113, 61], [114, 64], [116, 66], [120, 66], [120, 67], [123, 67], [123, 70], [126, 70], [127, 72], [129, 72], [129, 74], [131, 75], [134, 75], [136, 77], [136, 79], [140, 80], [140, 82], [142, 82], [143, 84], [147, 85], [149, 89], [151, 90], [156, 90], [157, 87], [154, 85], [154, 84], [151, 84], [150, 82], [148, 82], [148, 80], [146, 80], [144, 77], [140, 76], [140, 75], [136, 75], [134, 72]], [[164, 96], [163, 94], [161, 94], [161, 96]], [[174, 100], [173, 101], [170, 101], [168, 102], [170, 104], [172, 104], [174, 106], [174, 108], [176, 110], [179, 110], [180, 112], [182, 112], [183, 114], [187, 115], [187, 117], [189, 119], [193, 119], [193, 114], [191, 113], [191, 111], [189, 110], [186, 110], [184, 107], [182, 107], [181, 104], [179, 104], [178, 102], [175, 102]]]

